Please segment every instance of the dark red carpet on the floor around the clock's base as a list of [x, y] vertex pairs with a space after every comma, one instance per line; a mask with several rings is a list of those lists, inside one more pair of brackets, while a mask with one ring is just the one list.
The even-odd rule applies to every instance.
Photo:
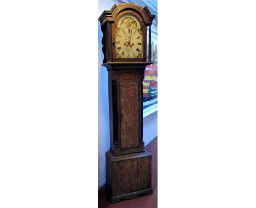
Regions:
[[121, 200], [111, 204], [105, 192], [98, 195], [98, 208], [157, 208], [158, 207], [158, 139], [147, 146], [152, 154], [152, 195], [144, 195], [136, 199]]

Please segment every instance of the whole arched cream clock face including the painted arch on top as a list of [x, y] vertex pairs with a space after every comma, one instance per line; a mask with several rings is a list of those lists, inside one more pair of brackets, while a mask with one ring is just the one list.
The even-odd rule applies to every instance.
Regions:
[[143, 58], [141, 25], [133, 14], [120, 17], [115, 29], [116, 58]]

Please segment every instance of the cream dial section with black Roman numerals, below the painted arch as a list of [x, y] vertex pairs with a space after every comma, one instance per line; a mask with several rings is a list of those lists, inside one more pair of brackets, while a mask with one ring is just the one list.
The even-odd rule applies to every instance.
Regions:
[[136, 28], [120, 28], [115, 36], [118, 58], [142, 58], [142, 35]]

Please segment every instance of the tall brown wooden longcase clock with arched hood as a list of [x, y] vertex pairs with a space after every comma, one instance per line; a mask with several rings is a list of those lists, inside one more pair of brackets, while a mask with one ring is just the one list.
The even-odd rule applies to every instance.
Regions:
[[112, 203], [153, 192], [152, 156], [144, 149], [142, 135], [142, 79], [146, 66], [152, 64], [154, 17], [147, 7], [123, 3], [114, 4], [98, 19], [103, 32], [102, 65], [108, 70], [110, 150], [106, 152], [106, 189]]

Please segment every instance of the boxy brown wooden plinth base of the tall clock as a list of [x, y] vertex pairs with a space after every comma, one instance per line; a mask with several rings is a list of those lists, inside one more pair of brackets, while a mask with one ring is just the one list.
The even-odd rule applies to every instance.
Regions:
[[149, 152], [114, 156], [106, 152], [106, 189], [112, 203], [152, 194], [152, 155]]

